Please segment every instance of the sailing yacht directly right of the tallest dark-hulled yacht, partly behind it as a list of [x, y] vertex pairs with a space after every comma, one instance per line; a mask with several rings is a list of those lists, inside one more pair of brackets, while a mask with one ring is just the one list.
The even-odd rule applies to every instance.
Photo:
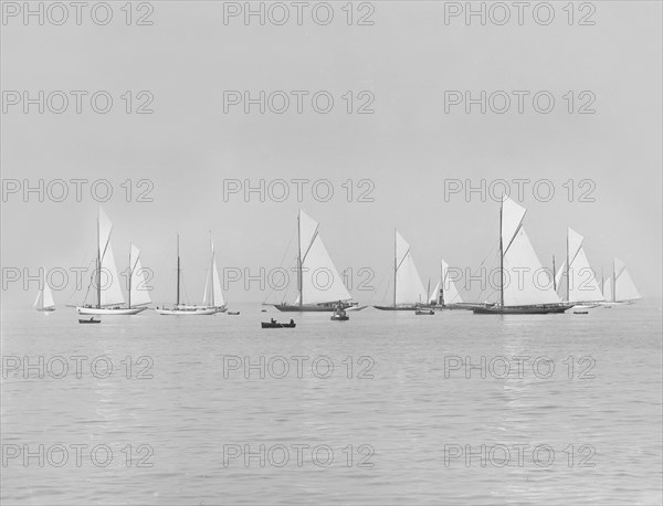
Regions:
[[568, 229], [567, 257], [555, 275], [557, 295], [565, 302], [575, 303], [576, 309], [590, 309], [604, 301], [601, 287], [585, 254], [583, 240], [585, 238], [573, 229]]

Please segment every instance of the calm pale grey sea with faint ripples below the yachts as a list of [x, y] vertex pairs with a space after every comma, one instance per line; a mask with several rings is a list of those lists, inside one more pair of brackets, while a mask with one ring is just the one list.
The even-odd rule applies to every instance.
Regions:
[[[235, 308], [3, 314], [2, 503], [661, 504], [660, 303], [347, 323]], [[297, 328], [261, 330], [272, 316]]]

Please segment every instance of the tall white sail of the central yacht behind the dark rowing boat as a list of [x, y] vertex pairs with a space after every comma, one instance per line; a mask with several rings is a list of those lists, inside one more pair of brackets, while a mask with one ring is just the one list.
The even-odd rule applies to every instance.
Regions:
[[299, 211], [302, 303], [320, 304], [352, 298], [318, 233], [318, 223]]

